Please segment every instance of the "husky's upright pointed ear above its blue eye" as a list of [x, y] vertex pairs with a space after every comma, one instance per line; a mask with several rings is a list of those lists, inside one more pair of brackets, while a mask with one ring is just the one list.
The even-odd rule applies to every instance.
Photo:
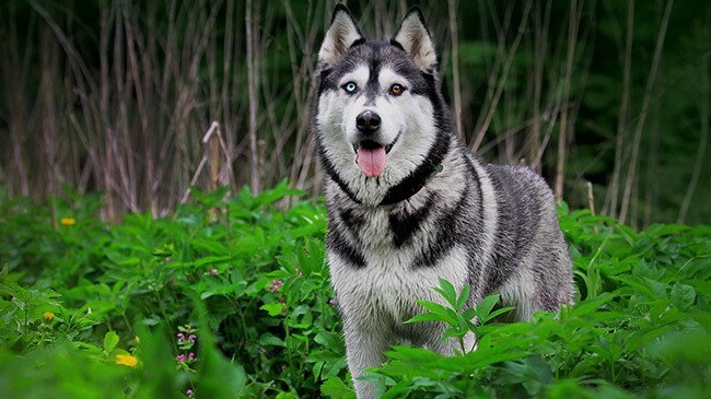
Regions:
[[339, 57], [346, 54], [357, 42], [363, 42], [365, 38], [361, 31], [353, 22], [353, 17], [343, 4], [337, 4], [334, 10], [334, 17], [330, 21], [330, 27], [326, 32], [324, 43], [318, 50], [318, 61], [323, 63], [333, 63]]

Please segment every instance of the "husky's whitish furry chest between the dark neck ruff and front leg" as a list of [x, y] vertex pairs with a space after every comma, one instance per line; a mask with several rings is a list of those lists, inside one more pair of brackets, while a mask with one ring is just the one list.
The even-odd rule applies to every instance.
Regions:
[[[329, 239], [328, 258], [331, 283], [347, 315], [397, 326], [421, 313], [417, 300], [441, 302], [432, 290], [439, 285], [439, 278], [461, 290], [468, 273], [466, 250], [459, 247], [429, 267], [418, 267], [417, 259], [432, 239], [427, 233], [429, 221], [422, 220], [416, 231], [407, 232], [407, 243], [400, 242], [404, 232], [394, 230], [392, 222], [392, 213], [374, 212], [359, 220], [358, 228], [341, 231], [343, 224], [333, 220], [329, 235], [343, 237], [336, 243]], [[354, 265], [338, 248], [343, 243], [362, 257], [361, 265]]]

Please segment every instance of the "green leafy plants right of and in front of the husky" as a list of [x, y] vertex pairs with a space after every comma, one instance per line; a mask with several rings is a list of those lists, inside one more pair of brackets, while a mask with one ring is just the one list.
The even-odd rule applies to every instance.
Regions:
[[[478, 332], [478, 349], [445, 357], [393, 348], [374, 378], [383, 397], [706, 397], [711, 230], [654, 225], [636, 233], [567, 210], [561, 227], [580, 290], [575, 306], [531, 322], [488, 324], [497, 296], [478, 313], [462, 312], [461, 296], [441, 281], [436, 291], [448, 306], [421, 303], [430, 313], [410, 321], [444, 321], [453, 337]], [[470, 321], [475, 316], [480, 322]]]

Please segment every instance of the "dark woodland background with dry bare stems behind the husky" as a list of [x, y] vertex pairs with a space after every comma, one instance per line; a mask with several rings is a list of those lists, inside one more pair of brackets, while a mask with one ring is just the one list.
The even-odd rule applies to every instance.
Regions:
[[[335, 3], [0, 2], [0, 186], [100, 191], [112, 221], [167, 214], [190, 185], [319, 195], [307, 114]], [[487, 160], [634, 227], [711, 222], [711, 2], [347, 2], [371, 38], [413, 4]]]

